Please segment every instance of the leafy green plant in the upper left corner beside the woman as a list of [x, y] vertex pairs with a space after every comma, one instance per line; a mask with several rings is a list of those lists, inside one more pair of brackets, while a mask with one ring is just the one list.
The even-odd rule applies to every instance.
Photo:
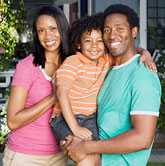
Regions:
[[[14, 2], [14, 1], [13, 1]], [[19, 1], [19, 9], [12, 8], [10, 0], [0, 1], [0, 71], [12, 67], [16, 44], [19, 42], [19, 35], [23, 24], [24, 6], [23, 0]], [[21, 6], [22, 5], [22, 6]]]

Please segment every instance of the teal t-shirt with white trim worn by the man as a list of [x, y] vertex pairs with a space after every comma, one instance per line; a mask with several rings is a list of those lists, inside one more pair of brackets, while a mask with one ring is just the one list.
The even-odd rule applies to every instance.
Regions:
[[[111, 139], [131, 129], [131, 115], [159, 115], [161, 86], [156, 73], [139, 64], [136, 54], [113, 67], [98, 96], [100, 139]], [[128, 154], [102, 154], [102, 166], [145, 166], [151, 148]]]

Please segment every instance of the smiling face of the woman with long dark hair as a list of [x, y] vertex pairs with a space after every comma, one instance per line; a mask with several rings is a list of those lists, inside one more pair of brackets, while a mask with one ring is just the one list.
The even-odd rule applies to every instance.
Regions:
[[41, 15], [36, 22], [39, 41], [47, 52], [58, 52], [61, 36], [57, 22], [52, 16]]

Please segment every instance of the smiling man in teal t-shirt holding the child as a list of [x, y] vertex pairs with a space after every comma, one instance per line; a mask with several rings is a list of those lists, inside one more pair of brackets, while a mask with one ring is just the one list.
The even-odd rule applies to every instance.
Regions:
[[101, 140], [71, 144], [69, 155], [79, 161], [87, 154], [102, 154], [102, 166], [145, 166], [159, 115], [160, 82], [156, 73], [138, 63], [137, 14], [125, 5], [112, 5], [104, 18], [103, 37], [115, 66], [98, 96]]

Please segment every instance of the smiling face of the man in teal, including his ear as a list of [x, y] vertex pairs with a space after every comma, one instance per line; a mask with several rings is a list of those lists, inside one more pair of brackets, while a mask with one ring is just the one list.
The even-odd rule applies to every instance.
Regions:
[[137, 28], [131, 29], [127, 17], [123, 14], [111, 14], [104, 23], [104, 41], [112, 56], [122, 56], [134, 48]]

